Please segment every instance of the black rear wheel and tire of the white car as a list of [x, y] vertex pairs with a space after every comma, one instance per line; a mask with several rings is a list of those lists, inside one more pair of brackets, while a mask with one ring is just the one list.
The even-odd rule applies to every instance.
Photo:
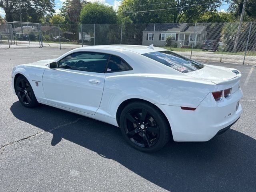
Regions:
[[131, 102], [120, 114], [124, 139], [142, 152], [156, 152], [171, 138], [168, 120], [156, 106], [146, 102]]

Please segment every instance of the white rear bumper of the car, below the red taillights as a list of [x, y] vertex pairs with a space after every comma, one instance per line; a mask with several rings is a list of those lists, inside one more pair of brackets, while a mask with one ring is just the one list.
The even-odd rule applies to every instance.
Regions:
[[172, 128], [174, 141], [208, 141], [216, 134], [230, 128], [241, 116], [242, 106], [237, 102], [242, 98], [241, 89], [220, 102], [211, 93], [199, 104], [196, 110], [182, 110], [180, 106], [156, 104], [166, 115]]

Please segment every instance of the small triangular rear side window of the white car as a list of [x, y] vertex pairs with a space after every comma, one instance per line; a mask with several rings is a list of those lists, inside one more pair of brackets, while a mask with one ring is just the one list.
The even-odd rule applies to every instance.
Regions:
[[111, 55], [108, 61], [106, 73], [128, 71], [132, 70], [132, 67], [118, 56]]

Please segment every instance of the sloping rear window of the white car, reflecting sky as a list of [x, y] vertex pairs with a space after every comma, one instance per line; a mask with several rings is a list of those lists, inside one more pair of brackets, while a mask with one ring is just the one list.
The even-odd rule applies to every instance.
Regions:
[[155, 61], [158, 61], [164, 65], [167, 65], [182, 73], [196, 71], [204, 67], [203, 64], [190, 60], [184, 56], [181, 56], [171, 51], [157, 51], [145, 53], [142, 55], [151, 58]]

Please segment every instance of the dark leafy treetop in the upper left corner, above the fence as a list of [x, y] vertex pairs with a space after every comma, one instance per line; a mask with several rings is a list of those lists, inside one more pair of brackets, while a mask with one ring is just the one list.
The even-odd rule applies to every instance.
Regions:
[[22, 21], [39, 22], [44, 14], [54, 13], [54, 0], [0, 0], [0, 7], [6, 13], [6, 21], [20, 20], [20, 8]]

